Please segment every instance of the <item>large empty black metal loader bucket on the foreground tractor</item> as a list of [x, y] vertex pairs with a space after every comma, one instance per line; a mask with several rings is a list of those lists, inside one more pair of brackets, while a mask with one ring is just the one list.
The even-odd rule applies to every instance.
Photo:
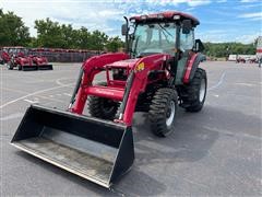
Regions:
[[107, 188], [134, 160], [131, 127], [37, 105], [11, 144]]

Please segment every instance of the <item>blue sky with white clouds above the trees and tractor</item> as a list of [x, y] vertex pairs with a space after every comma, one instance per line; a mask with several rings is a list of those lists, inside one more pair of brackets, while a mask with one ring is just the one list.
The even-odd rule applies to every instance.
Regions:
[[34, 21], [49, 18], [73, 27], [121, 37], [123, 15], [181, 11], [200, 20], [195, 38], [252, 43], [262, 35], [262, 0], [0, 0], [3, 12], [21, 16], [31, 35]]

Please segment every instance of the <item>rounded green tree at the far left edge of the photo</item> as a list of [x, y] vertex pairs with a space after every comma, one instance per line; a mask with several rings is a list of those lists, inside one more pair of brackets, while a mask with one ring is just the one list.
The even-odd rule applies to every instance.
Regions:
[[29, 43], [28, 27], [13, 12], [3, 13], [0, 9], [0, 45], [26, 46]]

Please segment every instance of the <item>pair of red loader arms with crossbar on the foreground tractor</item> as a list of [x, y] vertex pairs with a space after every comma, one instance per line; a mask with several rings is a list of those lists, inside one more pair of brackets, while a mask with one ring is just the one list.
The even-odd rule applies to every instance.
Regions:
[[[105, 70], [105, 66], [115, 61], [128, 59], [127, 54], [106, 54], [93, 57], [83, 65], [83, 77], [76, 94], [72, 112], [82, 114], [87, 96], [94, 95], [109, 97], [111, 100], [122, 101], [120, 106], [120, 116], [116, 121], [132, 125], [133, 113], [135, 109], [138, 96], [145, 91], [150, 71], [163, 69], [164, 61], [170, 58], [170, 55], [157, 54], [138, 59], [132, 68], [133, 74], [127, 80], [126, 88], [122, 90], [111, 90], [109, 88], [99, 89], [93, 85], [93, 80], [97, 73]], [[93, 93], [93, 94], [92, 94]]]

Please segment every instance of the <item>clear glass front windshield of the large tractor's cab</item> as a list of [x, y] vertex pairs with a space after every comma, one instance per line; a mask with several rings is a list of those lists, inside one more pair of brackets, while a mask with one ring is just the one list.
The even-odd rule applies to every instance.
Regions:
[[138, 24], [132, 51], [135, 57], [152, 54], [175, 54], [175, 23]]

